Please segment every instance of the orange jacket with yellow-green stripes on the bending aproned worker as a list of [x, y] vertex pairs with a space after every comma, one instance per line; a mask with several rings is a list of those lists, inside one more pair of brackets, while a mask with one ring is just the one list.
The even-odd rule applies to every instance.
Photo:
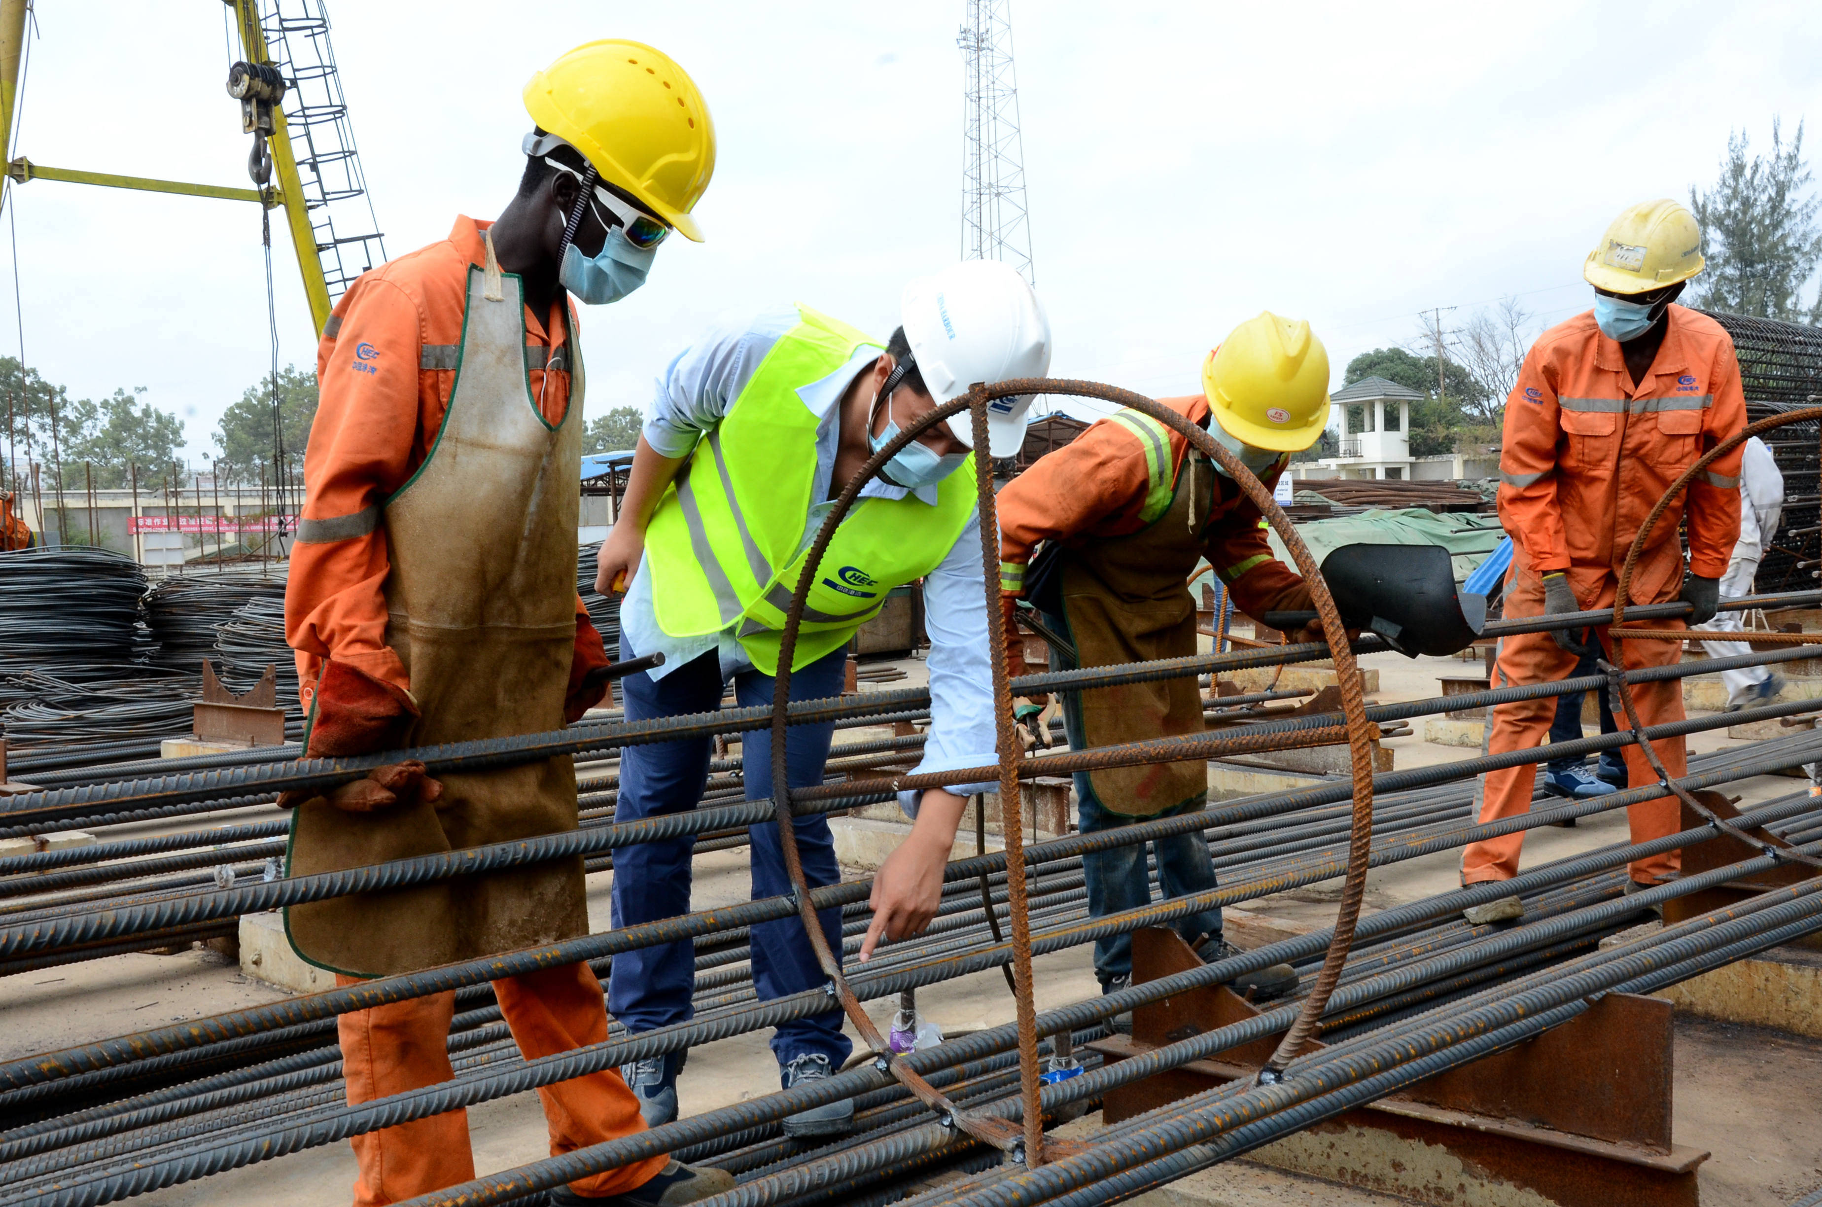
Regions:
[[[1208, 421], [1208, 399], [1201, 394], [1161, 397], [1159, 405]], [[1188, 438], [1172, 428], [1172, 485], [1182, 472]], [[1139, 438], [1111, 419], [1100, 419], [1075, 438], [1068, 456], [1040, 458], [1018, 476], [1018, 490], [1002, 494], [1000, 520], [1000, 618], [1006, 633], [1008, 673], [1024, 675], [1024, 634], [1015, 622], [1015, 604], [1024, 594], [1024, 567], [1042, 540], [1068, 542], [1079, 536], [1126, 536], [1146, 527], [1139, 518], [1150, 489], [1144, 447]], [[1213, 472], [1213, 470], [1210, 470]], [[1281, 472], [1281, 470], [1279, 470]], [[1261, 478], [1270, 490], [1279, 474]], [[1213, 476], [1215, 509], [1208, 516], [1208, 563], [1233, 591], [1233, 605], [1248, 616], [1274, 609], [1301, 611], [1310, 605], [1303, 578], [1272, 556], [1264, 520], [1241, 489], [1223, 474]]]

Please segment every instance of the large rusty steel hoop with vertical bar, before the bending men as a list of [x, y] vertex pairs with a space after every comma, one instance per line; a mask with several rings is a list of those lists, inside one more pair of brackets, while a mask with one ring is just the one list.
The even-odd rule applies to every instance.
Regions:
[[[1361, 691], [1361, 680], [1357, 665], [1354, 662], [1354, 651], [1348, 647], [1346, 629], [1341, 624], [1341, 614], [1336, 609], [1334, 598], [1328, 593], [1326, 583], [1321, 578], [1321, 571], [1315, 560], [1310, 556], [1308, 547], [1297, 536], [1290, 520], [1272, 500], [1272, 494], [1264, 485], [1239, 463], [1233, 454], [1223, 449], [1208, 432], [1190, 423], [1184, 416], [1161, 407], [1142, 394], [1133, 394], [1130, 390], [1121, 390], [1117, 387], [1100, 385], [1093, 381], [1073, 381], [1073, 379], [1055, 379], [1055, 377], [1024, 377], [1015, 381], [1002, 381], [997, 385], [977, 383], [967, 394], [957, 397], [942, 407], [933, 408], [918, 421], [904, 428], [895, 439], [891, 439], [884, 449], [875, 452], [865, 465], [845, 483], [834, 507], [824, 518], [822, 529], [816, 532], [816, 540], [811, 543], [805, 569], [800, 573], [798, 583], [793, 591], [791, 607], [785, 613], [785, 627], [782, 633], [778, 667], [773, 682], [773, 802], [774, 819], [778, 824], [780, 850], [785, 861], [785, 872], [791, 877], [793, 888], [798, 899], [798, 917], [804, 923], [804, 930], [809, 937], [811, 948], [816, 952], [816, 961], [829, 977], [829, 988], [836, 1001], [847, 1012], [849, 1019], [855, 1021], [855, 1028], [867, 1041], [869, 1048], [882, 1067], [891, 1072], [911, 1094], [915, 1094], [927, 1107], [944, 1116], [953, 1127], [975, 1136], [977, 1140], [1008, 1150], [1015, 1156], [1022, 1156], [1028, 1165], [1039, 1165], [1044, 1161], [1044, 1121], [1042, 1107], [1039, 1101], [1039, 1063], [1037, 1063], [1037, 1010], [1035, 997], [1031, 990], [1031, 930], [1029, 913], [1026, 908], [1026, 861], [1024, 861], [1024, 842], [1022, 842], [1022, 802], [1018, 789], [1018, 771], [1024, 753], [1013, 733], [1013, 715], [1011, 715], [1011, 687], [1006, 673], [1006, 660], [989, 651], [989, 665], [993, 667], [993, 698], [995, 698], [995, 727], [997, 727], [997, 755], [1000, 769], [1000, 810], [1002, 810], [1002, 828], [1006, 831], [1006, 881], [1008, 881], [1008, 913], [1011, 923], [1011, 946], [1013, 946], [1013, 986], [1017, 997], [1018, 1012], [1018, 1067], [1020, 1067], [1020, 1098], [1024, 1105], [1024, 1127], [1020, 1136], [1011, 1134], [1011, 1127], [1000, 1119], [977, 1118], [971, 1112], [962, 1110], [951, 1103], [935, 1087], [924, 1081], [920, 1076], [902, 1067], [889, 1050], [885, 1041], [880, 1037], [878, 1028], [873, 1019], [860, 1008], [860, 1001], [849, 988], [847, 979], [842, 975], [842, 968], [834, 959], [834, 952], [829, 948], [827, 937], [816, 919], [816, 912], [809, 903], [809, 884], [804, 879], [804, 864], [796, 848], [796, 831], [793, 826], [791, 810], [791, 786], [785, 775], [785, 718], [787, 704], [791, 700], [791, 662], [796, 651], [798, 631], [804, 624], [804, 609], [809, 602], [809, 587], [814, 583], [814, 571], [822, 563], [822, 558], [834, 536], [836, 527], [842, 523], [845, 514], [853, 509], [860, 496], [860, 489], [871, 481], [880, 469], [907, 443], [916, 439], [922, 432], [929, 430], [942, 419], [967, 408], [973, 419], [973, 438], [975, 438], [975, 490], [977, 503], [980, 509], [980, 556], [982, 556], [982, 578], [986, 585], [986, 609], [988, 616], [998, 614], [998, 521], [995, 516], [993, 500], [993, 465], [991, 458], [978, 456], [978, 450], [988, 449], [988, 401], [995, 397], [1008, 397], [1015, 394], [1071, 394], [1077, 397], [1093, 397], [1099, 401], [1115, 403], [1119, 407], [1130, 407], [1153, 419], [1166, 423], [1179, 430], [1184, 439], [1190, 441], [1199, 452], [1213, 459], [1221, 469], [1241, 485], [1248, 500], [1259, 509], [1279, 538], [1290, 549], [1292, 560], [1303, 573], [1305, 580], [1310, 583], [1310, 594], [1315, 604], [1317, 616], [1323, 624], [1323, 634], [1328, 640], [1330, 655], [1334, 656], [1336, 673], [1341, 684], [1341, 704], [1343, 717], [1346, 720], [1346, 740], [1350, 753], [1350, 766], [1354, 773], [1354, 813], [1352, 813], [1352, 831], [1348, 844], [1348, 866], [1346, 882], [1341, 895], [1341, 910], [1336, 917], [1334, 939], [1328, 946], [1328, 955], [1323, 961], [1323, 968], [1317, 974], [1315, 985], [1310, 996], [1305, 999], [1305, 1006], [1299, 1012], [1295, 1023], [1286, 1032], [1277, 1052], [1266, 1065], [1266, 1074], [1275, 1079], [1281, 1072], [1308, 1043], [1310, 1036], [1315, 1032], [1321, 1016], [1326, 1008], [1328, 997], [1341, 979], [1341, 968], [1346, 963], [1348, 948], [1354, 941], [1354, 928], [1359, 921], [1361, 901], [1366, 888], [1366, 864], [1372, 846], [1372, 749], [1370, 749], [1370, 722], [1365, 713], [1365, 693]], [[989, 620], [991, 627], [991, 620]], [[991, 640], [991, 638], [989, 638]], [[1337, 735], [1339, 737], [1339, 735]]]

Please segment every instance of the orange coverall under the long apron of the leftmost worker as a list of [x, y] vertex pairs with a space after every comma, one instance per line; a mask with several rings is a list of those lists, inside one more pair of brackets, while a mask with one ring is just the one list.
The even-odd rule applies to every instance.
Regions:
[[[317, 416], [304, 454], [306, 527], [292, 547], [286, 636], [297, 651], [301, 700], [310, 709], [326, 658], [410, 689], [399, 656], [384, 644], [390, 571], [379, 509], [423, 465], [456, 383], [468, 266], [483, 263], [488, 222], [456, 219], [448, 239], [388, 261], [355, 281], [335, 304], [317, 346]], [[558, 306], [567, 304], [567, 295]], [[574, 330], [574, 312], [570, 330]], [[570, 377], [543, 365], [563, 348], [563, 312], [525, 314], [530, 390], [543, 414], [561, 421]], [[312, 529], [321, 534], [310, 540]], [[324, 540], [326, 538], [326, 540]], [[578, 600], [581, 611], [581, 600]], [[339, 985], [353, 985], [337, 977]], [[587, 965], [494, 981], [501, 1016], [527, 1057], [607, 1041], [607, 1003]], [[454, 1078], [446, 1039], [456, 994], [414, 997], [341, 1016], [348, 1101], [435, 1085]], [[550, 1152], [618, 1140], [645, 1129], [618, 1070], [594, 1072], [537, 1090], [550, 1125]], [[430, 1116], [353, 1138], [361, 1178], [357, 1207], [392, 1203], [474, 1178], [465, 1110]], [[630, 1191], [663, 1169], [656, 1156], [570, 1183], [578, 1194]]]

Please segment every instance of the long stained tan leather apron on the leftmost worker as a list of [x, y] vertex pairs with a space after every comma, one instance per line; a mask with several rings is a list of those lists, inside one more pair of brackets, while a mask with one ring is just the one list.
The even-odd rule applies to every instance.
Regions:
[[[583, 376], [574, 332], [563, 421], [537, 412], [525, 370], [519, 277], [468, 270], [461, 357], [443, 430], [386, 503], [386, 642], [423, 717], [406, 746], [563, 727], [576, 644], [576, 512]], [[326, 799], [292, 824], [290, 873], [576, 830], [570, 757], [448, 773], [443, 799], [343, 813]], [[392, 975], [589, 934], [579, 855], [286, 910], [306, 961]]]

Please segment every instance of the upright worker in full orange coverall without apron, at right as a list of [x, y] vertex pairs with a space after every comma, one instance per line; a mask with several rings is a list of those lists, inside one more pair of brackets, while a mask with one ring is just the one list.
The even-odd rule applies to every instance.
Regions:
[[[1581, 275], [1594, 286], [1594, 308], [1538, 337], [1525, 356], [1505, 405], [1500, 454], [1500, 521], [1512, 534], [1514, 558], [1505, 587], [1505, 618], [1612, 607], [1620, 567], [1645, 514], [1696, 458], [1745, 423], [1740, 365], [1733, 341], [1713, 319], [1673, 304], [1702, 272], [1702, 232], [1674, 201], [1627, 208], [1589, 252]], [[1687, 520], [1689, 567], [1684, 573], [1678, 525]], [[1633, 567], [1629, 604], [1684, 600], [1687, 624], [1707, 622], [1720, 598], [1740, 534], [1740, 450], [1715, 459], [1674, 500], [1651, 531]], [[1684, 627], [1684, 620], [1653, 622]], [[1569, 675], [1596, 644], [1612, 658], [1603, 625], [1525, 633], [1500, 642], [1494, 687], [1549, 684]], [[1665, 665], [1680, 642], [1622, 642], [1627, 667]], [[1678, 680], [1633, 684], [1647, 726], [1684, 718]], [[1620, 700], [1611, 702], [1620, 709]], [[1530, 749], [1556, 713], [1552, 696], [1490, 709], [1487, 751]], [[1625, 717], [1616, 717], [1625, 727]], [[1671, 775], [1685, 773], [1682, 738], [1656, 742]], [[1625, 748], [1627, 782], [1656, 782], [1638, 746]], [[1479, 820], [1530, 810], [1534, 768], [1520, 764], [1481, 779]], [[1674, 833], [1671, 795], [1627, 810], [1633, 842]], [[1518, 875], [1523, 831], [1470, 844], [1461, 882]], [[1674, 851], [1631, 864], [1633, 884], [1676, 873]], [[1516, 915], [1518, 899], [1490, 903], [1494, 915]], [[1487, 913], [1483, 912], [1483, 917]]]

